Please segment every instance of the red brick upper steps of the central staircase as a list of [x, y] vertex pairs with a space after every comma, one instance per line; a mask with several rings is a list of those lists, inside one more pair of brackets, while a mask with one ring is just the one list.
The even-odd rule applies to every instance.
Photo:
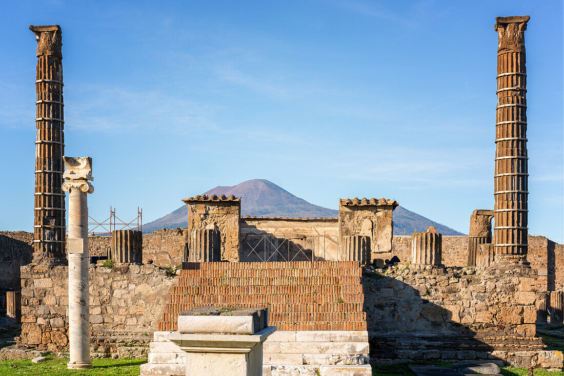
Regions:
[[277, 330], [367, 330], [361, 275], [355, 261], [184, 263], [158, 330], [204, 306], [267, 307]]

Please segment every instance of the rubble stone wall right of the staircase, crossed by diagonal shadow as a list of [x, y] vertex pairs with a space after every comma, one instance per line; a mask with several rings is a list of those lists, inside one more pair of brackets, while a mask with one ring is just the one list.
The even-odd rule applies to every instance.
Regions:
[[371, 362], [493, 360], [560, 368], [562, 353], [545, 351], [535, 338], [535, 288], [531, 269], [365, 271]]

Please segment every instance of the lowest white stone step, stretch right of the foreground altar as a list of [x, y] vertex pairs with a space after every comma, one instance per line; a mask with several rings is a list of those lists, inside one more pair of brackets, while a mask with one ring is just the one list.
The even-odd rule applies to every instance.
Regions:
[[263, 366], [263, 376], [372, 376], [365, 365], [276, 365]]

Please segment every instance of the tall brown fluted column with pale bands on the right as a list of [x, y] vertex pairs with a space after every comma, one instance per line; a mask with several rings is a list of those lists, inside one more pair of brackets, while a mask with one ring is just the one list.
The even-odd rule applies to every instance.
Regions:
[[497, 107], [495, 153], [495, 253], [527, 255], [527, 71], [529, 16], [496, 17]]

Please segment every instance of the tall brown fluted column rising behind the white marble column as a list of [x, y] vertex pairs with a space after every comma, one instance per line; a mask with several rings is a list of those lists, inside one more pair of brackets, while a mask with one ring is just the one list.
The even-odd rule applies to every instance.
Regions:
[[59, 25], [29, 26], [37, 39], [33, 263], [64, 264], [63, 54]]

